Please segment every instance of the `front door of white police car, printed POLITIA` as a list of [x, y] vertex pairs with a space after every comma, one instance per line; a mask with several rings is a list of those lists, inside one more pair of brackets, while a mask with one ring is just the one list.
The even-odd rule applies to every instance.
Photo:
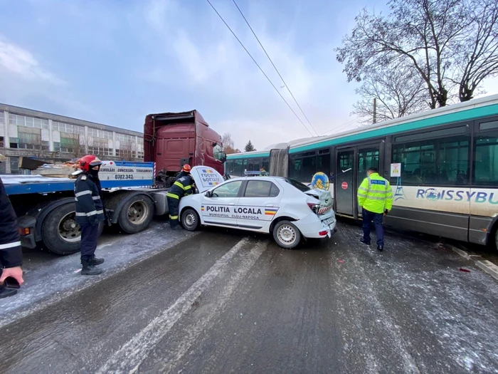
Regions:
[[237, 227], [234, 209], [238, 203], [242, 182], [242, 180], [226, 182], [204, 194], [201, 215], [205, 224]]

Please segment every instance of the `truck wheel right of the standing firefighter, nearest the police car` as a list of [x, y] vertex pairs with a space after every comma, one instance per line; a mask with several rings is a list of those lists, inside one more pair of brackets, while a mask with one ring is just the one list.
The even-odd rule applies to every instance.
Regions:
[[154, 204], [143, 194], [128, 199], [121, 208], [117, 223], [127, 234], [141, 232], [149, 226], [154, 216]]

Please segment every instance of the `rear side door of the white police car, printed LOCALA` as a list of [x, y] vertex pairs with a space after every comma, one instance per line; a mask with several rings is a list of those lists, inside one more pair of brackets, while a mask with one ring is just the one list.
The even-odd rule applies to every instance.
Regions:
[[268, 179], [250, 179], [235, 207], [238, 226], [267, 232], [277, 214], [283, 189]]

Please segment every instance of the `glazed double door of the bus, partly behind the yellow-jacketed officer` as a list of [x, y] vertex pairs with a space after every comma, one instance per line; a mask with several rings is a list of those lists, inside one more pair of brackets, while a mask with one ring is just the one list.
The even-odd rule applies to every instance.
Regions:
[[361, 217], [356, 192], [369, 167], [381, 169], [380, 148], [376, 143], [337, 150], [335, 197], [338, 214]]

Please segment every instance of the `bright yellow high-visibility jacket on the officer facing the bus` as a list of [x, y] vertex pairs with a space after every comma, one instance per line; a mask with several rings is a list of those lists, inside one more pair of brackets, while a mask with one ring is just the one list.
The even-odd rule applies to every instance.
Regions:
[[393, 207], [393, 191], [388, 180], [372, 173], [366, 177], [358, 189], [358, 204], [373, 213], [383, 213]]

